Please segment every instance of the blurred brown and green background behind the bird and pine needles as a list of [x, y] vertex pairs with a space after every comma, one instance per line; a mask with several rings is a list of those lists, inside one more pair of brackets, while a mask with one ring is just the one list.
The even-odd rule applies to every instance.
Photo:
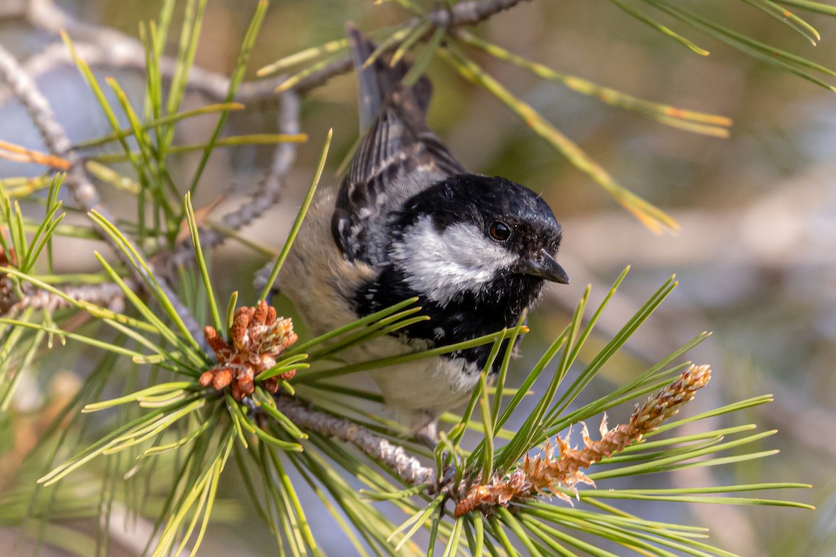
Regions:
[[[156, 18], [159, 10], [157, 2], [148, 0], [58, 4], [82, 22], [131, 36], [138, 36], [138, 22]], [[409, 17], [394, 3], [283, 0], [272, 4], [252, 53], [248, 79], [255, 77], [255, 69], [277, 58], [341, 37], [346, 21], [373, 29]], [[753, 38], [836, 68], [836, 18], [799, 12], [822, 34], [813, 48], [747, 3], [684, 4]], [[254, 5], [252, 0], [208, 3], [197, 65], [229, 73]], [[171, 28], [176, 30], [178, 24], [174, 21]], [[697, 333], [712, 331], [713, 336], [689, 356], [710, 363], [714, 371], [711, 385], [690, 410], [772, 392], [774, 403], [731, 419], [736, 424], [757, 422], [762, 430], [777, 428], [777, 435], [763, 441], [762, 448], [780, 448], [781, 453], [734, 467], [696, 468], [632, 481], [654, 487], [804, 482], [813, 484], [813, 489], [776, 496], [818, 508], [809, 512], [636, 504], [630, 512], [709, 526], [713, 543], [743, 555], [836, 555], [836, 97], [692, 28], [677, 29], [711, 55], [692, 53], [604, 0], [521, 3], [482, 24], [480, 32], [487, 40], [559, 72], [643, 99], [730, 117], [734, 125], [728, 139], [666, 127], [472, 53], [622, 185], [674, 216], [681, 224], [676, 234], [651, 234], [497, 99], [439, 60], [431, 63], [429, 71], [436, 88], [430, 123], [468, 169], [507, 176], [542, 191], [565, 230], [560, 261], [572, 284], [549, 286], [531, 320], [533, 332], [523, 342], [517, 373], [530, 368], [549, 339], [562, 330], [587, 284], [593, 288], [594, 307], [624, 266], [631, 266], [602, 317], [599, 337], [590, 341], [585, 356], [591, 357], [594, 347], [606, 342], [668, 276], [676, 274], [680, 286], [586, 396], [611, 390]], [[18, 58], [27, 58], [52, 40], [19, 18], [0, 19], [0, 43]], [[170, 42], [175, 48], [176, 33], [171, 33]], [[140, 74], [112, 70], [98, 74], [115, 75], [132, 99], [141, 102]], [[74, 141], [110, 131], [75, 68], [58, 68], [39, 78], [38, 84]], [[200, 106], [203, 101], [187, 99], [186, 108], [190, 103]], [[253, 107], [232, 114], [227, 133], [275, 131], [275, 122], [273, 107]], [[179, 140], [200, 143], [213, 126], [214, 119], [191, 120], [179, 129]], [[334, 143], [323, 185], [336, 185], [334, 171], [356, 139], [356, 87], [351, 74], [332, 79], [303, 99], [302, 128], [310, 137], [308, 144], [299, 149], [280, 204], [243, 230], [244, 235], [276, 249], [282, 245], [330, 127]], [[43, 149], [15, 102], [0, 105], [0, 138]], [[237, 206], [241, 195], [259, 180], [271, 152], [269, 147], [218, 149], [195, 205], [223, 197], [213, 216]], [[175, 167], [174, 173], [187, 175], [197, 160], [199, 154], [184, 156], [181, 170]], [[0, 160], [0, 178], [40, 171]], [[119, 212], [120, 194], [110, 190], [104, 195]], [[77, 271], [97, 269], [89, 243], [77, 251], [73, 246], [68, 243], [60, 251], [59, 265]], [[235, 270], [217, 277], [225, 293], [252, 292], [252, 271], [263, 264], [263, 257], [235, 245], [224, 246], [218, 257], [223, 258], [219, 268]], [[510, 382], [520, 380], [517, 376]], [[610, 415], [609, 421], [624, 421], [629, 413], [630, 408], [624, 408], [623, 413]], [[260, 539], [257, 528], [242, 531], [233, 524], [214, 532], [217, 544], [204, 544], [201, 554], [273, 553], [272, 542]], [[323, 541], [329, 554], [339, 554], [339, 537]]]

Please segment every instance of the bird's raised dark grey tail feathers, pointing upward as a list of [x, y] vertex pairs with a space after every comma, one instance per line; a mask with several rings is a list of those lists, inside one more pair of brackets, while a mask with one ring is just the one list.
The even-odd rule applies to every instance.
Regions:
[[[380, 113], [380, 107], [383, 106], [386, 97], [393, 90], [401, 87], [400, 80], [404, 78], [410, 66], [400, 60], [393, 67], [390, 65], [390, 57], [381, 55], [375, 58], [373, 63], [364, 67], [366, 60], [375, 52], [375, 43], [372, 43], [351, 22], [346, 23], [345, 34], [349, 38], [351, 59], [354, 63], [354, 70], [357, 72], [360, 129], [369, 129], [372, 121]], [[426, 76], [421, 76], [410, 89], [411, 97], [415, 99], [422, 117], [426, 117], [426, 109], [430, 105], [432, 96], [430, 80]]]

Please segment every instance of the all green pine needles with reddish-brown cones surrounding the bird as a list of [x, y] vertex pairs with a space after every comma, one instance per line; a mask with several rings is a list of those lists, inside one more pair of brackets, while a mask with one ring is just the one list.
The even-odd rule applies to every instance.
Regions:
[[[380, 45], [375, 55], [413, 60], [406, 81], [424, 73], [431, 60], [441, 59], [465, 80], [495, 95], [651, 230], [676, 229], [675, 220], [619, 185], [476, 60], [500, 59], [604, 104], [687, 132], [725, 137], [729, 119], [639, 99], [559, 73], [482, 38], [477, 23], [516, 2], [447, 2], [443, 8], [424, 8], [411, 0], [391, 2], [403, 8], [403, 23], [371, 34]], [[671, 48], [682, 46], [705, 56], [711, 41], [721, 41], [836, 91], [826, 82], [836, 76], [833, 70], [727, 28], [707, 8], [691, 11], [667, 0], [610, 3], [645, 23], [650, 32], [670, 38]], [[836, 15], [836, 9], [806, 0], [746, 3], [813, 44], [818, 32], [787, 8]], [[262, 519], [261, 527], [273, 535], [279, 554], [323, 554], [319, 539], [327, 533], [311, 525], [305, 504], [314, 497], [332, 515], [352, 550], [363, 555], [726, 555], [706, 542], [704, 529], [642, 519], [619, 505], [640, 500], [658, 505], [808, 508], [794, 503], [792, 494], [790, 499], [773, 499], [771, 494], [808, 487], [803, 484], [620, 489], [614, 482], [641, 474], [728, 466], [775, 453], [761, 447], [774, 432], [757, 431], [745, 418], [732, 418], [740, 423], [732, 427], [706, 427], [700, 433], [689, 427], [686, 432], [686, 426], [707, 418], [743, 416], [748, 408], [771, 400], [764, 395], [705, 413], [686, 413], [686, 418], [677, 414], [692, 397], [699, 397], [698, 390], [711, 378], [709, 367], [684, 360], [686, 352], [708, 337], [705, 332], [609, 394], [591, 402], [584, 396], [586, 387], [673, 291], [673, 277], [619, 332], [601, 342], [589, 361], [580, 358], [582, 348], [599, 334], [599, 316], [628, 280], [628, 271], [614, 281], [599, 306], [589, 307], [587, 289], [563, 332], [517, 387], [506, 384], [512, 353], [503, 347], [513, 346], [527, 332], [522, 321], [452, 346], [345, 364], [340, 352], [347, 348], [426, 319], [416, 300], [307, 338], [297, 337], [293, 322], [268, 305], [268, 291], [257, 298], [219, 291], [212, 281], [212, 243], [206, 241], [217, 229], [210, 230], [206, 215], [191, 205], [206, 161], [214, 149], [303, 142], [307, 136], [298, 131], [222, 136], [227, 114], [247, 108], [237, 101], [237, 93], [268, 9], [265, 0], [252, 14], [222, 102], [181, 109], [205, 8], [206, 0], [165, 0], [157, 21], [140, 25], [146, 83], [145, 99], [138, 106], [115, 79], [103, 83], [74, 48], [72, 33], [64, 34], [66, 48], [99, 100], [112, 133], [63, 152], [38, 153], [0, 144], [3, 156], [48, 170], [42, 178], [0, 182], [0, 524], [17, 526], [38, 543], [76, 554], [103, 554], [110, 521], [122, 509], [152, 519], [146, 554], [199, 554], [212, 524], [237, 519], [246, 500]], [[176, 66], [165, 73], [164, 45], [178, 9], [183, 10], [183, 25]], [[662, 19], [675, 22], [676, 29]], [[289, 72], [276, 94], [304, 93], [319, 83], [317, 79], [347, 68], [346, 56], [347, 43], [334, 38], [282, 58], [258, 75]], [[18, 70], [3, 58], [8, 84], [15, 84]], [[26, 98], [26, 84], [11, 89], [18, 98]], [[114, 98], [115, 103], [110, 100]], [[205, 114], [217, 114], [206, 141], [177, 144], [176, 124]], [[130, 126], [122, 129], [124, 119]], [[313, 199], [330, 139], [329, 133], [273, 277]], [[118, 145], [121, 152], [99, 150], [109, 145]], [[190, 178], [176, 180], [171, 161], [189, 151], [200, 152], [200, 162]], [[130, 218], [116, 219], [103, 206], [85, 203], [79, 173], [130, 196]], [[28, 205], [42, 205], [40, 216], [29, 216], [22, 208]], [[68, 212], [86, 215], [86, 224], [65, 223]], [[252, 246], [234, 230], [222, 233]], [[64, 273], [54, 267], [52, 254], [67, 237], [103, 240], [115, 256], [96, 252], [99, 272]], [[164, 279], [159, 261], [175, 253], [179, 257], [171, 259], [174, 272]], [[166, 286], [171, 275], [173, 290]], [[240, 280], [249, 283], [249, 277]], [[503, 343], [508, 339], [511, 342]], [[464, 412], [445, 416], [451, 428], [441, 433], [435, 453], [385, 418], [380, 395], [340, 381], [375, 367], [482, 344], [492, 345], [491, 361]], [[83, 384], [62, 382], [54, 367], [58, 354], [84, 368]], [[497, 359], [500, 372], [491, 383], [487, 370]], [[37, 423], [14, 407], [23, 391], [33, 388], [27, 382], [31, 377], [52, 387], [32, 411]], [[532, 390], [535, 382], [537, 392]], [[606, 412], [630, 402], [637, 404], [635, 413], [610, 428]], [[519, 425], [512, 428], [511, 423]], [[590, 434], [587, 423], [600, 423], [599, 433]], [[28, 443], [20, 440], [22, 428]], [[764, 496], [763, 491], [770, 494]], [[69, 528], [69, 518], [95, 519], [99, 534], [93, 537]]]

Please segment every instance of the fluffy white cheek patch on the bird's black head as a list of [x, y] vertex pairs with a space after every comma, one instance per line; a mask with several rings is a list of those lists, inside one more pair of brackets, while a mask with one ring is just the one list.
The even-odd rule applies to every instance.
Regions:
[[415, 291], [446, 306], [463, 291], [479, 291], [517, 256], [475, 225], [451, 225], [440, 234], [431, 217], [423, 216], [405, 231], [392, 259]]

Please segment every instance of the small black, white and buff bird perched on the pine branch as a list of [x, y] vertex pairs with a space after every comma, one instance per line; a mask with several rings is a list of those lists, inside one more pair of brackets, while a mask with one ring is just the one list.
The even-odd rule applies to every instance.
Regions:
[[[408, 63], [370, 61], [375, 44], [353, 23], [346, 34], [365, 133], [339, 189], [317, 193], [278, 290], [317, 335], [418, 298], [428, 320], [342, 352], [349, 362], [515, 327], [547, 281], [569, 282], [555, 259], [563, 229], [553, 211], [523, 185], [468, 172], [426, 122], [429, 78], [402, 83]], [[488, 344], [370, 375], [394, 418], [431, 444], [437, 418], [471, 396], [490, 352]]]

